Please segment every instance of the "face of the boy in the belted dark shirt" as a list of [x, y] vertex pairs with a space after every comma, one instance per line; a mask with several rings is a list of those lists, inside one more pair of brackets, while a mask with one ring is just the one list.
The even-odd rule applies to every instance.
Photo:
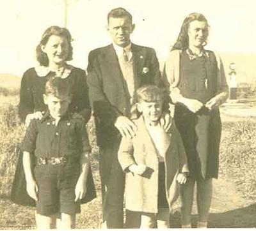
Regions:
[[70, 96], [53, 96], [44, 94], [44, 103], [48, 105], [49, 112], [54, 119], [60, 118], [68, 110]]

